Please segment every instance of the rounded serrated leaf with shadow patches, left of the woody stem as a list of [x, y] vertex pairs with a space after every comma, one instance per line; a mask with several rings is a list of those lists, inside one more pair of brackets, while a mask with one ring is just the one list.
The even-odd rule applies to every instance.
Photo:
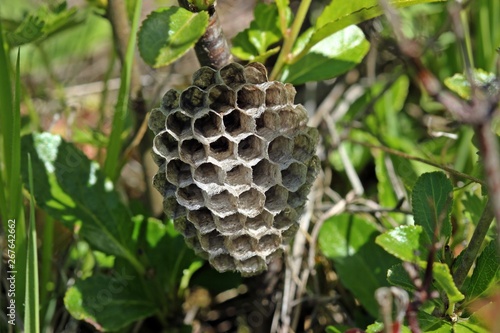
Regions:
[[144, 20], [138, 34], [141, 57], [149, 65], [166, 66], [184, 55], [205, 33], [208, 13], [184, 8], [159, 9]]

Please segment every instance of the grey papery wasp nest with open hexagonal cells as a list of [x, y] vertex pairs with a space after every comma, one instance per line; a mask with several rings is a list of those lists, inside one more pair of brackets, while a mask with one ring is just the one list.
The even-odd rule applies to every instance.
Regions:
[[319, 159], [295, 93], [260, 63], [232, 63], [200, 68], [151, 112], [164, 210], [219, 272], [266, 270], [298, 229]]

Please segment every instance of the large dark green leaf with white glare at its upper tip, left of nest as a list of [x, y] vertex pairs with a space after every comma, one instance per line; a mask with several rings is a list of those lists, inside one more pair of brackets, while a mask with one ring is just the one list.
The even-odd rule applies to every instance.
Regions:
[[133, 228], [130, 213], [98, 164], [50, 133], [24, 136], [21, 147], [25, 183], [28, 153], [33, 161], [37, 204], [70, 229], [81, 223], [80, 235], [96, 250], [123, 257], [143, 272], [129, 249]]

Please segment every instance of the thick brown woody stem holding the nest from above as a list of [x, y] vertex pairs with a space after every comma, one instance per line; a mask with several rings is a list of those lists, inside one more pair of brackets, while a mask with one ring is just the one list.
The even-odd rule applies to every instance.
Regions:
[[[201, 11], [186, 0], [179, 0], [179, 5], [192, 12]], [[194, 50], [201, 66], [220, 69], [232, 62], [233, 56], [215, 11], [215, 4], [209, 6], [207, 12], [210, 15], [207, 30], [196, 42]]]

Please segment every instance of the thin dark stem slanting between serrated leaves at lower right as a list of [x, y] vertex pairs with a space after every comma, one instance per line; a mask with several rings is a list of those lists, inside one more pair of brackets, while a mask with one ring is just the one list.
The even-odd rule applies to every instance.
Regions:
[[481, 249], [481, 245], [483, 244], [484, 238], [486, 237], [486, 233], [490, 228], [493, 217], [493, 208], [491, 206], [491, 202], [488, 201], [486, 203], [486, 207], [483, 210], [483, 214], [481, 215], [479, 222], [477, 223], [476, 229], [472, 234], [469, 245], [457, 259], [456, 268], [453, 267], [453, 281], [458, 288], [463, 285], [467, 274], [469, 274], [469, 270], [472, 267], [472, 264], [476, 260], [479, 250]]

